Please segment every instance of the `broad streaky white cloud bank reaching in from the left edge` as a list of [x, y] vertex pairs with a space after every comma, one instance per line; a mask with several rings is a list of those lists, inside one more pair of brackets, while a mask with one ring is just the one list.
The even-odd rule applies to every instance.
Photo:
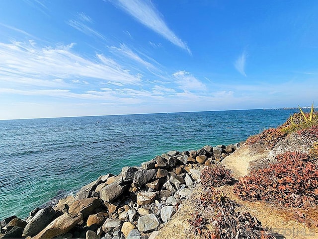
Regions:
[[93, 59], [72, 52], [72, 44], [35, 47], [23, 42], [0, 43], [0, 78], [12, 84], [55, 84], [52, 80], [100, 79], [120, 84], [138, 84], [140, 78], [130, 74], [113, 59], [96, 54]]

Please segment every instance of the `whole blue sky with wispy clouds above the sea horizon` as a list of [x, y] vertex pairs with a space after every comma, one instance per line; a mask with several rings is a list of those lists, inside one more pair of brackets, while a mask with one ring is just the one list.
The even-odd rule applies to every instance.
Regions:
[[318, 103], [316, 0], [0, 0], [0, 119]]

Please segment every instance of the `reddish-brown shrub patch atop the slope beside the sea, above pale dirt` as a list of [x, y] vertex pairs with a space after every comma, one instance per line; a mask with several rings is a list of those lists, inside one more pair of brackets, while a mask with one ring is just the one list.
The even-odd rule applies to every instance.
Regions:
[[248, 145], [255, 145], [260, 144], [268, 149], [272, 149], [278, 141], [285, 138], [287, 133], [281, 130], [281, 128], [270, 128], [264, 130], [258, 135], [250, 136], [246, 140], [246, 144]]

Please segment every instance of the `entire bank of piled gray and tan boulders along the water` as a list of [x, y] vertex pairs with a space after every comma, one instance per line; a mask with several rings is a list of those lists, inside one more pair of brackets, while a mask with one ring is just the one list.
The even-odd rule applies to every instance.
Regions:
[[200, 183], [204, 166], [219, 163], [240, 145], [169, 151], [140, 167], [123, 167], [118, 175], [102, 175], [54, 207], [36, 208], [25, 220], [2, 220], [0, 239], [154, 239]]

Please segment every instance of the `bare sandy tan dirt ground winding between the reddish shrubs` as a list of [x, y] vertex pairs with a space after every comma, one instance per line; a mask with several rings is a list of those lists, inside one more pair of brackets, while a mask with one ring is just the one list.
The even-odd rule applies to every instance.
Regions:
[[[246, 145], [243, 145], [232, 155], [222, 161], [222, 164], [234, 172], [236, 179], [248, 173], [249, 163], [255, 159], [265, 158], [263, 154], [253, 154]], [[318, 239], [318, 228], [307, 228], [294, 219], [295, 210], [279, 208], [265, 202], [246, 202], [233, 193], [233, 186], [223, 186], [221, 189], [225, 194], [241, 205], [239, 210], [247, 211], [255, 216], [264, 227], [276, 233], [277, 238], [286, 239]], [[200, 188], [193, 191], [191, 197], [195, 199], [200, 195]], [[195, 200], [187, 200], [182, 208], [172, 217], [172, 220], [160, 230], [157, 239], [195, 239], [189, 230], [188, 219], [191, 213], [195, 213]], [[316, 210], [315, 210], [316, 211]], [[317, 209], [318, 211], [318, 209]], [[304, 212], [306, 214], [306, 212]], [[317, 216], [318, 218], [318, 216]], [[317, 219], [316, 218], [316, 219]]]

